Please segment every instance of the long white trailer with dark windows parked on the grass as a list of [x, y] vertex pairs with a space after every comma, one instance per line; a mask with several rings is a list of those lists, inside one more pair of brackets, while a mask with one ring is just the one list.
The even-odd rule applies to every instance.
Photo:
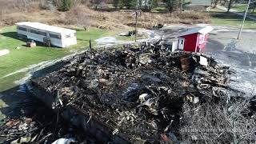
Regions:
[[16, 23], [18, 36], [52, 46], [67, 47], [77, 44], [76, 31], [39, 22]]

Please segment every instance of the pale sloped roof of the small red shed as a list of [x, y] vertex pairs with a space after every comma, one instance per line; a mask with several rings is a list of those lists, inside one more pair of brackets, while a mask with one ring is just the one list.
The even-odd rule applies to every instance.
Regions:
[[179, 34], [178, 37], [181, 37], [184, 35], [189, 35], [189, 34], [195, 34], [195, 33], [208, 34], [212, 30], [214, 30], [214, 28], [212, 26], [198, 26], [198, 27], [194, 27], [190, 30], [185, 31], [182, 34]]

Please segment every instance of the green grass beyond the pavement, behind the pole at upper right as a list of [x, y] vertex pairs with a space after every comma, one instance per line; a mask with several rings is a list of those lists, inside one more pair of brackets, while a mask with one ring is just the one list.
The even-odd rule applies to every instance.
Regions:
[[[214, 26], [230, 26], [230, 27], [240, 27], [242, 23], [242, 16], [226, 13], [225, 11], [213, 9], [210, 10], [209, 14], [211, 15], [211, 24]], [[245, 29], [254, 29], [256, 30], [256, 22], [246, 18], [244, 24]]]

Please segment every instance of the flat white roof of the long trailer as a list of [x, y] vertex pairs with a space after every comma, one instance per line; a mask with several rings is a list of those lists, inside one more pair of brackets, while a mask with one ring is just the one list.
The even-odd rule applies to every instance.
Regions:
[[16, 25], [17, 26], [29, 26], [34, 29], [51, 31], [51, 32], [58, 33], [58, 34], [74, 34], [74, 33], [76, 33], [75, 30], [65, 29], [65, 28], [57, 27], [57, 26], [49, 26], [49, 25], [39, 23], [39, 22], [18, 22], [18, 23], [16, 23]]

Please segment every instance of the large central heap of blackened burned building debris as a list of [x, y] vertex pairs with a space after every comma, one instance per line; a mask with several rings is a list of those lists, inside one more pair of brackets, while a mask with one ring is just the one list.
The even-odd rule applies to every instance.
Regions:
[[160, 46], [90, 51], [34, 79], [35, 94], [99, 142], [177, 142], [184, 102], [221, 97], [229, 67]]

